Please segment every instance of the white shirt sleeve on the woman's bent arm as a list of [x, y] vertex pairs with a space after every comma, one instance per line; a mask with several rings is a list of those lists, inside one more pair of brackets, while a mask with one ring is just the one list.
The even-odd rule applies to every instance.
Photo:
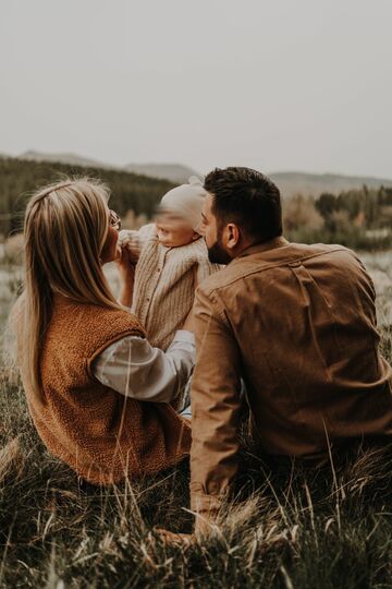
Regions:
[[195, 337], [180, 329], [164, 352], [147, 339], [126, 336], [94, 361], [96, 378], [113, 390], [143, 401], [170, 402], [184, 389], [195, 365]]

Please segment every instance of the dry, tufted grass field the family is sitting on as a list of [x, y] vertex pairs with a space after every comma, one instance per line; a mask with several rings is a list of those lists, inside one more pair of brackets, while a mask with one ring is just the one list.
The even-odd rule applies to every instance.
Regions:
[[[363, 259], [391, 361], [392, 256]], [[2, 324], [19, 273], [1, 268]], [[339, 468], [271, 471], [244, 441], [242, 501], [208, 537], [169, 545], [156, 527], [192, 528], [186, 464], [132, 485], [79, 489], [37, 437], [19, 382], [4, 368], [0, 378], [0, 587], [392, 587], [392, 452], [356, 448]]]

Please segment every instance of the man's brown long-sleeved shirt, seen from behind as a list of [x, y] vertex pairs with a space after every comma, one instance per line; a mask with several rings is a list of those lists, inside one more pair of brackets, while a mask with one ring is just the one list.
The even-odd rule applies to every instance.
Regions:
[[328, 444], [392, 436], [391, 368], [375, 289], [342, 245], [277, 238], [207, 278], [195, 300], [191, 497], [219, 507], [238, 467], [241, 378], [264, 453], [319, 459]]

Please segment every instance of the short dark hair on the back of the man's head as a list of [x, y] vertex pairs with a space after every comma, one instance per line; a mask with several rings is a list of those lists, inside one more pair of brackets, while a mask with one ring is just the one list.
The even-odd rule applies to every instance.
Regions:
[[235, 223], [254, 242], [282, 235], [282, 207], [278, 187], [250, 168], [216, 168], [206, 176], [204, 188], [212, 195], [212, 214], [218, 228]]

